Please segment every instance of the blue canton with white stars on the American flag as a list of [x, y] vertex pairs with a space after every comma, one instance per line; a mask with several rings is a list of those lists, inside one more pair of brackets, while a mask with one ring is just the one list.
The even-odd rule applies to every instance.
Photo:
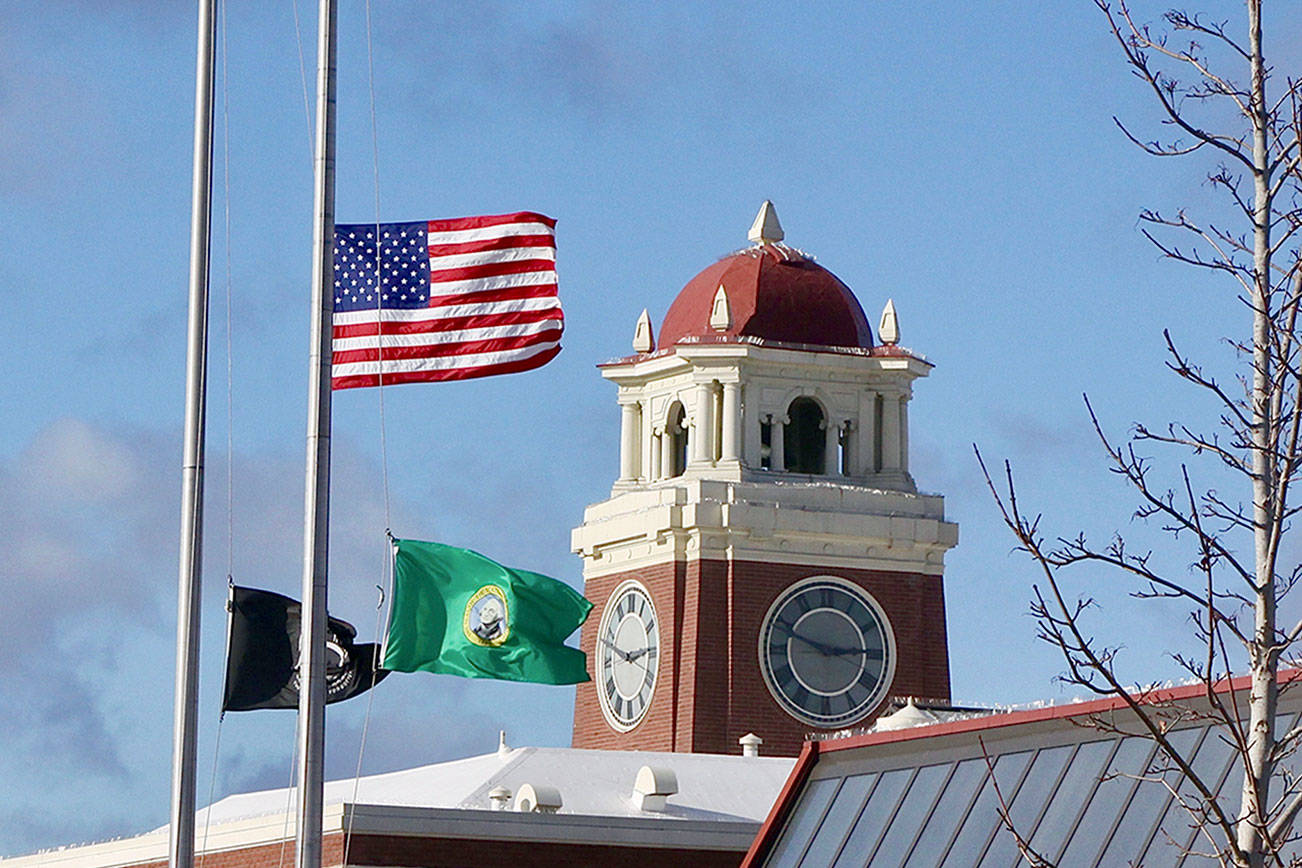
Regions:
[[[430, 224], [335, 225], [335, 312], [376, 307], [414, 308], [430, 303]], [[376, 280], [375, 233], [380, 236]], [[376, 299], [376, 293], [380, 299]]]

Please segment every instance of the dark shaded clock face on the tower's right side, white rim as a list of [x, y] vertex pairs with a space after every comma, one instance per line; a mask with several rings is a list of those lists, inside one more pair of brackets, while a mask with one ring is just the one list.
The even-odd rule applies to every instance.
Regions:
[[871, 712], [894, 677], [894, 635], [878, 601], [844, 579], [783, 591], [759, 629], [759, 669], [788, 714], [846, 726]]

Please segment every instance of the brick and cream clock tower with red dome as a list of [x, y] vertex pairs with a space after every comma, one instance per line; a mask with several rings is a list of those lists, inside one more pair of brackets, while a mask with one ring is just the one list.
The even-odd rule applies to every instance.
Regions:
[[870, 724], [893, 696], [949, 699], [944, 554], [958, 528], [909, 471], [909, 400], [931, 364], [874, 341], [850, 289], [783, 243], [678, 293], [656, 338], [600, 366], [618, 387], [620, 476], [574, 530], [592, 682], [574, 746], [732, 753], [747, 733]]

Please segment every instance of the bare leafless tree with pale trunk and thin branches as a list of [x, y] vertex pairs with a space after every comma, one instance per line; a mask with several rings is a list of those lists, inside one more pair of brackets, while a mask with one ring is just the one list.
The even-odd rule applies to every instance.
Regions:
[[[1184, 211], [1144, 211], [1141, 221], [1144, 236], [1164, 256], [1226, 276], [1237, 286], [1238, 299], [1253, 311], [1253, 328], [1250, 337], [1229, 342], [1238, 358], [1251, 364], [1251, 375], [1238, 373], [1241, 392], [1226, 389], [1165, 333], [1168, 367], [1216, 402], [1219, 431], [1194, 432], [1178, 422], [1165, 424], [1165, 431], [1137, 424], [1130, 442], [1116, 445], [1086, 401], [1111, 470], [1139, 497], [1134, 517], [1159, 521], [1161, 531], [1176, 539], [1191, 539], [1191, 565], [1159, 562], [1151, 549], [1131, 548], [1120, 534], [1103, 545], [1083, 532], [1059, 537], [1056, 545], [1046, 543], [1039, 517], [1018, 506], [1006, 463], [1003, 492], [988, 474], [987, 480], [1008, 527], [1039, 566], [1043, 584], [1034, 587], [1031, 610], [1042, 638], [1055, 644], [1068, 664], [1065, 681], [1120, 698], [1134, 712], [1141, 724], [1137, 734], [1157, 744], [1152, 763], [1178, 770], [1182, 786], [1197, 794], [1180, 803], [1199, 838], [1213, 848], [1207, 855], [1240, 868], [1284, 865], [1290, 842], [1298, 839], [1294, 820], [1302, 816], [1302, 780], [1281, 766], [1282, 757], [1302, 746], [1302, 727], [1276, 730], [1280, 666], [1297, 658], [1297, 643], [1302, 642], [1302, 622], [1284, 631], [1277, 622], [1281, 599], [1302, 584], [1302, 565], [1290, 563], [1281, 573], [1279, 561], [1289, 522], [1302, 514], [1302, 508], [1289, 504], [1289, 485], [1302, 467], [1297, 332], [1302, 303], [1302, 82], [1272, 79], [1263, 52], [1263, 0], [1245, 0], [1246, 39], [1237, 35], [1238, 27], [1197, 13], [1170, 9], [1163, 13], [1161, 26], [1150, 26], [1131, 16], [1128, 0], [1094, 3], [1107, 17], [1131, 72], [1159, 105], [1160, 124], [1170, 130], [1164, 141], [1152, 141], [1133, 134], [1118, 120], [1125, 135], [1154, 156], [1199, 154], [1215, 160], [1207, 180], [1226, 195], [1236, 220], [1230, 228], [1219, 220], [1200, 223]], [[1267, 98], [1271, 81], [1284, 85], [1275, 102]], [[1213, 129], [1226, 120], [1217, 108], [1233, 111], [1236, 120], [1228, 130]], [[1182, 246], [1168, 234], [1193, 243]], [[1178, 484], [1164, 487], [1137, 444], [1211, 455], [1219, 462], [1213, 472], [1228, 471], [1247, 483], [1240, 489], [1243, 495], [1224, 497], [1215, 483], [1195, 487], [1185, 463], [1180, 465]], [[1250, 508], [1242, 500], [1247, 491]], [[1200, 651], [1172, 656], [1204, 685], [1199, 707], [1154, 703], [1150, 690], [1117, 674], [1121, 647], [1096, 640], [1083, 623], [1094, 600], [1073, 600], [1059, 578], [1064, 569], [1079, 563], [1105, 565], [1135, 580], [1135, 597], [1180, 600], [1191, 606]], [[1230, 679], [1245, 668], [1246, 679]], [[1241, 777], [1230, 781], [1241, 782], [1237, 809], [1229, 804], [1232, 796], [1219, 798], [1220, 782], [1202, 780], [1194, 757], [1184, 756], [1167, 738], [1194, 720], [1212, 721], [1217, 738], [1236, 751]]]

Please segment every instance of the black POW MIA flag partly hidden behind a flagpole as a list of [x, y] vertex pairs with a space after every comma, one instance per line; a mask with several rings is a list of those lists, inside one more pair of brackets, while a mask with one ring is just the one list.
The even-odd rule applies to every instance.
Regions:
[[[230, 586], [227, 601], [224, 712], [298, 708], [298, 630], [302, 604], [284, 595]], [[339, 618], [326, 627], [326, 701], [337, 703], [370, 690], [389, 673], [378, 669], [379, 645], [354, 644], [357, 630]]]

